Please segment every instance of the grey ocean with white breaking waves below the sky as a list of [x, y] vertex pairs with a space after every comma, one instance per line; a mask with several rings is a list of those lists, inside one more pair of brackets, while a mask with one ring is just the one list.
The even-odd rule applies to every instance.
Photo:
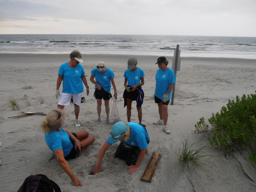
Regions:
[[129, 54], [256, 59], [256, 37], [98, 35], [98, 34], [0, 34], [0, 53]]

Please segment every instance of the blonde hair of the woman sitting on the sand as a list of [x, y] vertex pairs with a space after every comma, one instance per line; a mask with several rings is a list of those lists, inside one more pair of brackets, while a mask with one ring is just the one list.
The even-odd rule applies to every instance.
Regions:
[[[59, 113], [61, 116], [59, 117]], [[49, 133], [54, 130], [58, 123], [60, 123], [63, 118], [67, 116], [67, 113], [63, 109], [52, 109], [47, 115], [46, 120], [41, 122], [41, 127], [44, 133]]]

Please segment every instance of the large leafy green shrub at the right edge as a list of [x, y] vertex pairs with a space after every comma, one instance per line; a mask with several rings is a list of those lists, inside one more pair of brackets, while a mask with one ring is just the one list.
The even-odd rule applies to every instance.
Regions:
[[210, 144], [223, 150], [225, 156], [234, 150], [241, 151], [248, 146], [249, 159], [256, 162], [256, 94], [236, 96], [236, 101], [228, 100], [220, 112], [208, 119], [214, 129]]

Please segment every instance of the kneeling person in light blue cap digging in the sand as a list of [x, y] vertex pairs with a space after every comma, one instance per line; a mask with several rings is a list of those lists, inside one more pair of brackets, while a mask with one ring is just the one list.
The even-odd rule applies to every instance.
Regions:
[[129, 166], [126, 171], [127, 173], [132, 174], [138, 170], [146, 154], [148, 143], [150, 142], [146, 126], [133, 122], [126, 124], [124, 122], [117, 122], [110, 130], [108, 140], [100, 149], [93, 170], [94, 174], [100, 172], [100, 163], [106, 150], [108, 150], [112, 144], [118, 142], [118, 140], [121, 142], [115, 152], [115, 158], [126, 161], [126, 164]]

